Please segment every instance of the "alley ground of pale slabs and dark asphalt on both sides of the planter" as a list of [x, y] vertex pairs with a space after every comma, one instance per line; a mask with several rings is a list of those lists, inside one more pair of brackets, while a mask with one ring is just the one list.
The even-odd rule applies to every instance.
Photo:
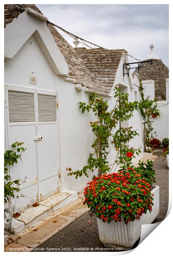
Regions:
[[[159, 156], [157, 159], [154, 156], [154, 168], [157, 174], [155, 184], [160, 187], [160, 212], [154, 222], [159, 222], [165, 218], [168, 209], [168, 168], [163, 153], [156, 151], [154, 154]], [[9, 241], [5, 241], [5, 251], [104, 250], [98, 237], [96, 218], [89, 216], [88, 209], [82, 204], [82, 197], [79, 194], [79, 200], [11, 236]]]

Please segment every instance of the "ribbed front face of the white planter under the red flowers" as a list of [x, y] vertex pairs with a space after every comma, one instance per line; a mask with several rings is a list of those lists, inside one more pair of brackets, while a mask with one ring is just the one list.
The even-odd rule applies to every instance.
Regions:
[[122, 248], [123, 251], [130, 250], [133, 244], [140, 238], [141, 221], [129, 221], [127, 225], [121, 222], [104, 223], [97, 218], [99, 239], [105, 247]]

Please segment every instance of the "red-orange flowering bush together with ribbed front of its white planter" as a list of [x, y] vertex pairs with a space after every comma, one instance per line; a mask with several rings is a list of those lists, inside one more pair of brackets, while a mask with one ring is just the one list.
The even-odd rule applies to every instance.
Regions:
[[100, 175], [84, 189], [83, 204], [96, 216], [99, 239], [105, 247], [131, 249], [140, 238], [140, 217], [151, 213], [154, 205], [152, 161], [136, 168], [131, 164], [132, 155], [126, 153], [126, 164], [117, 173]]

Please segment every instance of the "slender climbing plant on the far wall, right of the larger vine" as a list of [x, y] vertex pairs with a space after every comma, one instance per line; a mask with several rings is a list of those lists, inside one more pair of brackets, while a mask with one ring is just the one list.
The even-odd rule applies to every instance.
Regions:
[[152, 127], [152, 111], [153, 111], [153, 104], [154, 104], [154, 109], [156, 110], [157, 107], [157, 100], [150, 100], [150, 97], [144, 97], [144, 88], [143, 88], [143, 84], [142, 81], [139, 81], [140, 83], [140, 87], [139, 87], [139, 91], [140, 91], [140, 95], [141, 95], [141, 101], [139, 102], [139, 109], [140, 109], [140, 113], [142, 115], [143, 118], [143, 142], [144, 142], [144, 151], [147, 152], [147, 147], [150, 147], [150, 141], [151, 139], [156, 136], [156, 132], [154, 131], [153, 127]]

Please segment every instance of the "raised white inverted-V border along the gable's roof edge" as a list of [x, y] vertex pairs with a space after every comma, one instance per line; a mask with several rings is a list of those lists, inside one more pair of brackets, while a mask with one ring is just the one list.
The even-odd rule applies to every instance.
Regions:
[[68, 76], [68, 65], [46, 23], [27, 12], [20, 14], [5, 28], [5, 59], [12, 59], [33, 33], [54, 73]]

